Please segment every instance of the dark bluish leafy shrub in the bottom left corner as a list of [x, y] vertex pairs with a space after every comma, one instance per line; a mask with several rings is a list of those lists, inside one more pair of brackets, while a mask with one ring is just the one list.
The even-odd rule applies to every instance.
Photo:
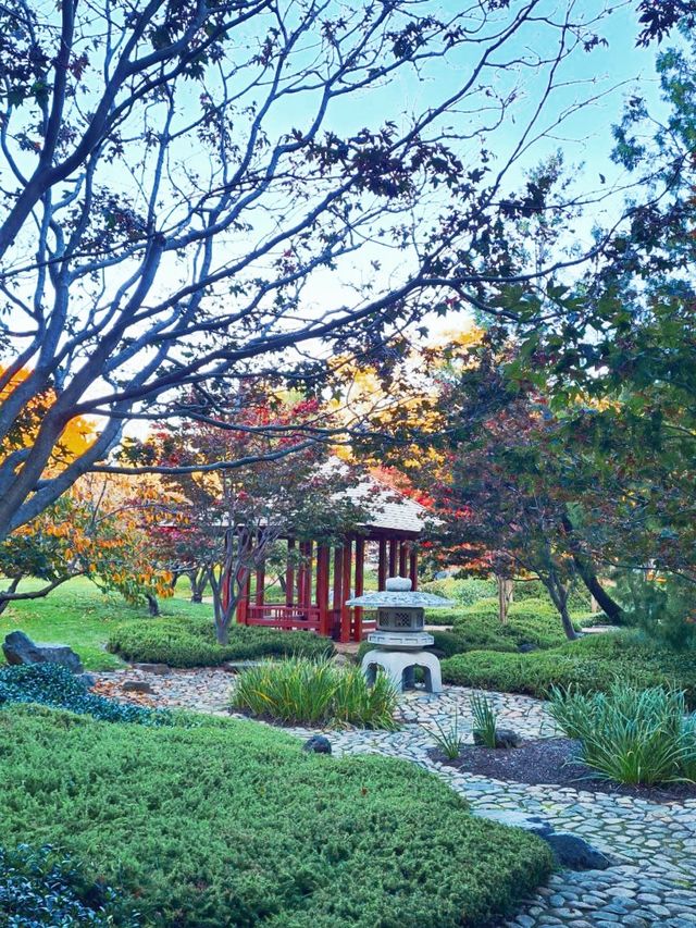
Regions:
[[0, 847], [0, 925], [5, 928], [137, 928], [113, 889], [88, 879], [70, 855], [50, 845]]

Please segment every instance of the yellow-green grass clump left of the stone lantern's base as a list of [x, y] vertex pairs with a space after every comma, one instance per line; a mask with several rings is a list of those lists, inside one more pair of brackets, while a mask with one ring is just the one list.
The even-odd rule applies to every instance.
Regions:
[[331, 660], [293, 657], [250, 667], [237, 678], [232, 705], [286, 725], [397, 728], [397, 692], [388, 678], [378, 673], [368, 686], [360, 668]]

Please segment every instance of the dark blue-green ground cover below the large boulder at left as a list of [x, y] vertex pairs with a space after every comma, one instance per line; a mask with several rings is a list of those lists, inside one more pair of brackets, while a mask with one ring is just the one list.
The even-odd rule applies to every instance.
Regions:
[[59, 664], [0, 667], [0, 708], [14, 703], [37, 703], [89, 715], [102, 721], [171, 725], [172, 713], [120, 703], [91, 693], [79, 677]]

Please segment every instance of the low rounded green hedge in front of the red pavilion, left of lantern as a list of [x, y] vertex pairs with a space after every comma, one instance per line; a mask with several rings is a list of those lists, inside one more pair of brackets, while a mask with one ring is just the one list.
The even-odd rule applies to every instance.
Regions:
[[183, 616], [124, 622], [111, 632], [107, 646], [126, 660], [170, 667], [215, 667], [226, 660], [288, 655], [319, 659], [334, 653], [333, 643], [313, 632], [253, 626], [233, 626], [228, 644], [221, 646], [210, 620]]

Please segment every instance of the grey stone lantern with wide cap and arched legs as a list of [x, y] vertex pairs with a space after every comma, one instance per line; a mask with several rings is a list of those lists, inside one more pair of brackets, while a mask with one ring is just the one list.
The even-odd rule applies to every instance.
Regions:
[[425, 689], [431, 693], [442, 693], [439, 660], [432, 652], [424, 649], [434, 644], [435, 639], [424, 630], [423, 609], [425, 606], [453, 605], [449, 599], [412, 591], [408, 577], [390, 577], [383, 592], [356, 596], [348, 599], [346, 605], [377, 610], [377, 627], [368, 635], [368, 641], [374, 647], [362, 658], [362, 670], [368, 683], [374, 683], [377, 668], [381, 667], [402, 692], [405, 688], [413, 685], [415, 668], [422, 667], [425, 671]]

